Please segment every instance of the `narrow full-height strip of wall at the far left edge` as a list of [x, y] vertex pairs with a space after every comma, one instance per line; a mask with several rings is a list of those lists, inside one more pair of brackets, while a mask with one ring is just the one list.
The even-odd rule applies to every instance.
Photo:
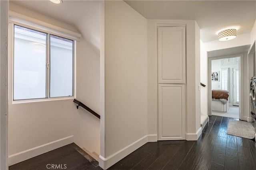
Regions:
[[7, 164], [7, 37], [8, 37], [8, 1], [0, 1], [0, 169], [8, 169]]

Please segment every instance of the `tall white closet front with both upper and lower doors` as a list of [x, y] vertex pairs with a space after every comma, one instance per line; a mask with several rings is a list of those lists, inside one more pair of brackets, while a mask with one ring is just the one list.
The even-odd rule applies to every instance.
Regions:
[[185, 25], [159, 26], [158, 140], [184, 140], [186, 48]]

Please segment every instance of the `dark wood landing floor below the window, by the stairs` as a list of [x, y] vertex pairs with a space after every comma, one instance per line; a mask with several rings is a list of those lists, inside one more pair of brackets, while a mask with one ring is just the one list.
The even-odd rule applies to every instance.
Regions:
[[46, 152], [18, 164], [9, 170], [102, 170], [98, 162], [75, 143]]

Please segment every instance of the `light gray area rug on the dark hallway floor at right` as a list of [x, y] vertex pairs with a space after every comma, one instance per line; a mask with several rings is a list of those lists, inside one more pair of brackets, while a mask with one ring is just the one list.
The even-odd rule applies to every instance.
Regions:
[[227, 134], [247, 139], [254, 139], [255, 131], [252, 123], [250, 122], [229, 120]]

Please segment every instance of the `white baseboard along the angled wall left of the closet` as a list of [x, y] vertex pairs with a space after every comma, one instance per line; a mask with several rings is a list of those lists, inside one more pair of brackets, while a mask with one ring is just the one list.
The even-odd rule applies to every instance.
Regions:
[[103, 168], [104, 170], [108, 169], [110, 166], [114, 165], [116, 162], [127, 156], [128, 154], [132, 153], [134, 150], [138, 149], [142, 145], [148, 143], [148, 142], [156, 142], [157, 141], [157, 135], [146, 135], [134, 143], [128, 145], [127, 147], [118, 150], [116, 153], [108, 156], [107, 158], [104, 158], [100, 155], [99, 159], [99, 166]]

